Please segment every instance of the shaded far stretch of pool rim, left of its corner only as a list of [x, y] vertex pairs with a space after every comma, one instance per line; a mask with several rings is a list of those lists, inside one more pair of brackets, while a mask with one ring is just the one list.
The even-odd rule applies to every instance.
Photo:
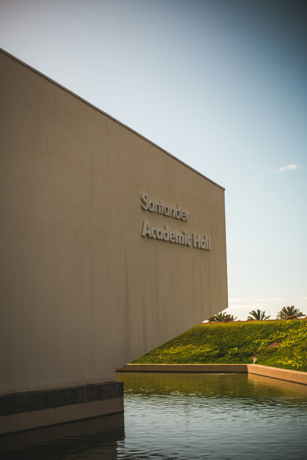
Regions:
[[118, 372], [243, 372], [247, 364], [126, 364]]

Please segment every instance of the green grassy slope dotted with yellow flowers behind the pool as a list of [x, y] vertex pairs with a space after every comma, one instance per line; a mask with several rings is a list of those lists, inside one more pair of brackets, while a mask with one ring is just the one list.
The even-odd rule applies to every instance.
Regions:
[[307, 372], [307, 320], [199, 324], [133, 363], [252, 363], [254, 356], [257, 364]]

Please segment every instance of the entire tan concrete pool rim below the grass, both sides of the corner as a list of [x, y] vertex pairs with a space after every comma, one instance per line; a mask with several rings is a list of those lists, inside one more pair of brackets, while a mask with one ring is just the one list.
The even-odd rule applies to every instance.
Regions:
[[260, 364], [126, 364], [118, 372], [220, 372], [257, 374], [307, 385], [307, 372], [272, 368]]

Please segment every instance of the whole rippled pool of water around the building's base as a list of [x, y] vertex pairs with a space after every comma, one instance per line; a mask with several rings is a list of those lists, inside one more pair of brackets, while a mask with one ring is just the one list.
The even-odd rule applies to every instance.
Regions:
[[1, 459], [306, 459], [307, 386], [252, 374], [127, 373], [125, 414], [0, 437]]

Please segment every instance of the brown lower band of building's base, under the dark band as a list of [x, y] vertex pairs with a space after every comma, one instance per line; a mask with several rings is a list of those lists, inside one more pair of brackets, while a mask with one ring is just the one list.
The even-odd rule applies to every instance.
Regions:
[[57, 425], [73, 420], [89, 419], [100, 415], [116, 414], [123, 412], [123, 410], [124, 398], [118, 397], [92, 403], [73, 404], [53, 409], [6, 415], [0, 417], [0, 434]]

